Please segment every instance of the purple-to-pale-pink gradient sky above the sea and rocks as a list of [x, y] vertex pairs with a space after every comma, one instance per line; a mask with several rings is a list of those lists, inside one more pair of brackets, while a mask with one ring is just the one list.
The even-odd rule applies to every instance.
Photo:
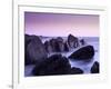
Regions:
[[28, 34], [47, 37], [99, 37], [98, 14], [24, 12]]

